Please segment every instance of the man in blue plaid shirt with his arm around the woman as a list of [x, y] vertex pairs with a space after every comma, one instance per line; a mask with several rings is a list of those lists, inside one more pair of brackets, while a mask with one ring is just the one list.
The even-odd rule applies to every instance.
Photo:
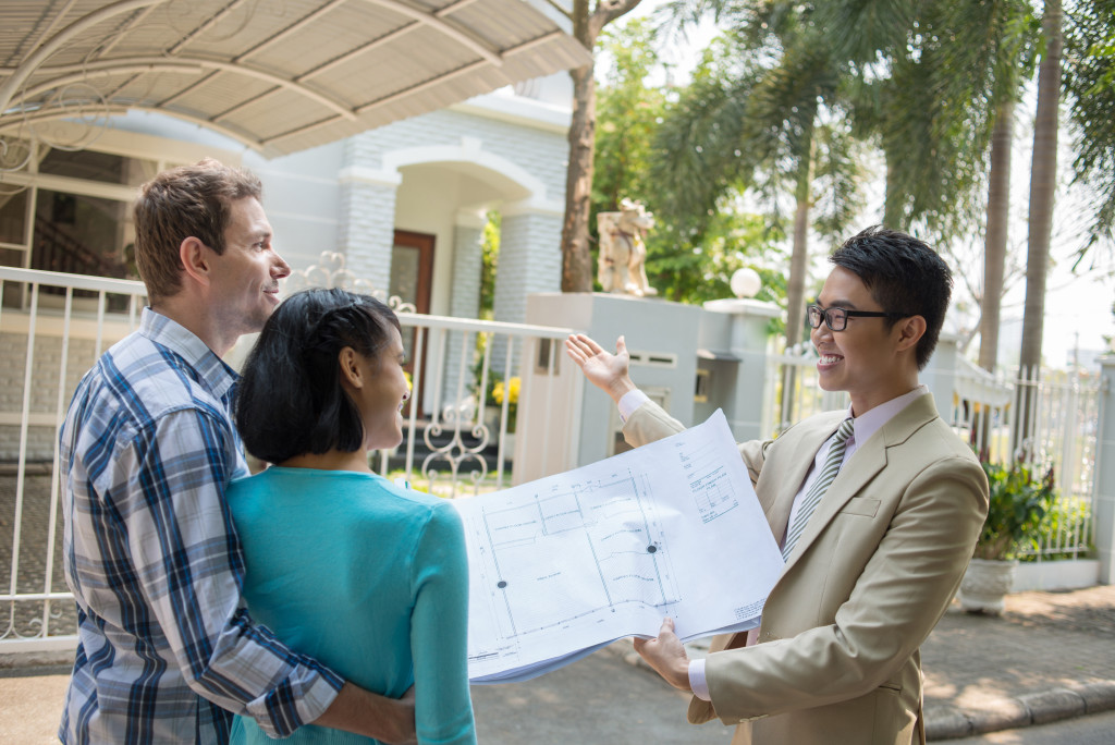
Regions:
[[[224, 743], [232, 714], [270, 735], [301, 725], [414, 737], [413, 693], [346, 683], [255, 626], [224, 500], [246, 474], [221, 356], [259, 331], [290, 273], [260, 182], [205, 159], [144, 185], [139, 329], [78, 386], [61, 433], [66, 579], [79, 642], [64, 743]], [[329, 602], [329, 598], [322, 598]]]

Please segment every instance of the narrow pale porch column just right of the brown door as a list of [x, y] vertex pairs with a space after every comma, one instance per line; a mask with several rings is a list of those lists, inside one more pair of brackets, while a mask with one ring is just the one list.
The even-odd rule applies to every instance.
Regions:
[[[484, 225], [487, 217], [483, 212], [457, 213], [453, 234], [453, 296], [449, 300], [449, 315], [456, 318], [478, 318], [481, 310], [481, 272], [484, 267], [483, 243]], [[465, 337], [468, 336], [468, 349], [465, 350]], [[446, 369], [442, 400], [456, 401], [457, 386], [460, 381], [460, 356], [465, 359], [464, 388], [459, 391], [462, 398], [472, 391], [472, 350], [476, 338], [471, 335], [452, 333], [446, 350]], [[477, 401], [479, 403], [479, 401]]]

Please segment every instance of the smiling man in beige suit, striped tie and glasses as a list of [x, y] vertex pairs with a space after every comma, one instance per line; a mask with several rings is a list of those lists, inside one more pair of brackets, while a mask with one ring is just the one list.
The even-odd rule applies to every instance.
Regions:
[[[987, 480], [918, 383], [949, 303], [948, 267], [903, 233], [867, 229], [830, 258], [809, 308], [825, 390], [847, 412], [811, 417], [739, 453], [786, 565], [757, 630], [689, 660], [666, 619], [636, 648], [694, 691], [689, 720], [738, 725], [733, 743], [924, 743], [919, 647], [960, 583], [987, 514]], [[642, 445], [682, 429], [585, 336], [570, 357]], [[835, 474], [835, 475], [834, 475]]]

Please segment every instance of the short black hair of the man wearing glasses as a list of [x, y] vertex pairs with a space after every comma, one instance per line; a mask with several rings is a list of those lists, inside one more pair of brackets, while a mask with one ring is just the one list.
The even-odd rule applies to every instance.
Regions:
[[[937, 347], [952, 294], [944, 260], [912, 235], [873, 225], [847, 239], [828, 261], [854, 273], [883, 310], [925, 319], [914, 357], [923, 369]], [[899, 321], [885, 319], [888, 328]]]

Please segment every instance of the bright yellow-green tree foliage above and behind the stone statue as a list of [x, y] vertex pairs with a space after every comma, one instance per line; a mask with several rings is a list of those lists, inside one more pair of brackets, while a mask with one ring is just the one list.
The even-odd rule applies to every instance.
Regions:
[[[647, 275], [662, 297], [689, 303], [731, 297], [731, 273], [753, 267], [764, 279], [759, 299], [780, 300], [785, 277], [756, 264], [778, 259], [776, 246], [784, 235], [776, 224], [741, 210], [737, 195], [727, 188], [735, 180], [731, 170], [740, 162], [740, 153], [733, 149], [726, 154], [697, 154], [700, 163], [696, 168], [705, 173], [690, 183], [680, 182], [656, 165], [661, 151], [670, 147], [662, 132], [667, 137], [676, 132], [678, 125], [671, 128], [670, 123], [676, 120], [675, 114], [689, 110], [694, 86], [723, 79], [726, 69], [735, 64], [729, 48], [714, 45], [695, 81], [673, 89], [647, 83], [649, 76], [665, 70], [655, 51], [655, 32], [644, 19], [608, 29], [601, 39], [612, 65], [603, 71], [597, 94], [592, 231], [598, 212], [617, 210], [624, 197], [641, 201], [656, 220], [646, 238]], [[735, 148], [735, 141], [730, 135], [725, 142]], [[725, 175], [710, 178], [706, 166], [712, 164], [723, 167]], [[717, 178], [720, 187], [704, 188]], [[760, 262], [760, 257], [767, 260]]]

